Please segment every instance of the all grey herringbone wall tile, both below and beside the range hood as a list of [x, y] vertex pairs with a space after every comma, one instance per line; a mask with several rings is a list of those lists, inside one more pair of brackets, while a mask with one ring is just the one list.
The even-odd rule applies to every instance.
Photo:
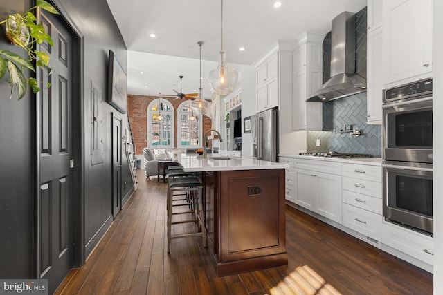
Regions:
[[[366, 8], [356, 13], [356, 73], [366, 77]], [[323, 79], [327, 80], [331, 61], [331, 34], [323, 41]], [[325, 82], [325, 81], [323, 81]], [[354, 127], [359, 137], [335, 130]], [[352, 127], [350, 127], [352, 126]], [[320, 146], [316, 146], [317, 139]], [[307, 152], [337, 151], [381, 156], [381, 126], [366, 124], [366, 93], [323, 103], [323, 131], [307, 131]]]

